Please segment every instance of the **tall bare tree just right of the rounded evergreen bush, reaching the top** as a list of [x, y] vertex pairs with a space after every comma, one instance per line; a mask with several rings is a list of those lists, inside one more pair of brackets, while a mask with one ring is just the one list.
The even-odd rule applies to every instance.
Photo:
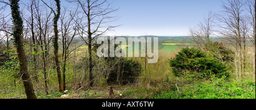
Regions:
[[[242, 78], [242, 74], [245, 69], [245, 51], [246, 51], [246, 37], [247, 27], [246, 19], [244, 15], [244, 1], [240, 0], [228, 0], [223, 3], [222, 11], [216, 14], [215, 18], [218, 21], [218, 31], [222, 36], [227, 39], [234, 48], [236, 48], [235, 65], [238, 78], [239, 75]], [[238, 63], [238, 64], [236, 64]]]

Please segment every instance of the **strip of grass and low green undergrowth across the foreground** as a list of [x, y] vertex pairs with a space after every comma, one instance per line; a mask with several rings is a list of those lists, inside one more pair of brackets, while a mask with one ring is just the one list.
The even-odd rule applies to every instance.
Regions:
[[[176, 82], [148, 83], [148, 86], [114, 86], [114, 96], [109, 96], [107, 86], [88, 90], [69, 90], [66, 94], [55, 91], [46, 95], [36, 94], [38, 99], [255, 99], [255, 81], [196, 81], [175, 86]], [[177, 89], [179, 88], [179, 90]], [[115, 90], [117, 89], [117, 90]], [[122, 94], [122, 95], [121, 95]], [[1, 93], [0, 98], [26, 98], [22, 92]]]

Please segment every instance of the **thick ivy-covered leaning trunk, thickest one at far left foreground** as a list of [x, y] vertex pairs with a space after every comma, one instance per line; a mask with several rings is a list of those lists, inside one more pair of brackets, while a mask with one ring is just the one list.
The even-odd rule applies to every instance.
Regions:
[[10, 0], [11, 16], [13, 17], [13, 24], [14, 24], [14, 27], [13, 27], [14, 45], [16, 47], [16, 51], [19, 59], [19, 73], [20, 73], [20, 76], [22, 77], [22, 82], [25, 88], [25, 93], [27, 98], [36, 99], [33, 85], [30, 81], [30, 75], [28, 74], [28, 70], [27, 70], [26, 54], [23, 49], [23, 43], [22, 43], [23, 21], [22, 21], [22, 17], [20, 16], [18, 2], [19, 1], [16, 1], [16, 0]]

